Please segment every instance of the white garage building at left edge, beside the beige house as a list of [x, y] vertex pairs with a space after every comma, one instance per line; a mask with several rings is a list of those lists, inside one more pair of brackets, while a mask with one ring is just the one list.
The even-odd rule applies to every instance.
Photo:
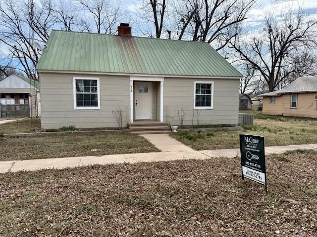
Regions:
[[[0, 117], [40, 116], [40, 83], [20, 75], [0, 80]], [[37, 100], [33, 98], [37, 97]], [[38, 104], [36, 113], [35, 104]]]

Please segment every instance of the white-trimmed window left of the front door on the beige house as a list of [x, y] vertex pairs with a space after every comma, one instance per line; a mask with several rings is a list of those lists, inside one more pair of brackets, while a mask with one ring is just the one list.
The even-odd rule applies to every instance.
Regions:
[[74, 109], [100, 109], [99, 78], [73, 78]]

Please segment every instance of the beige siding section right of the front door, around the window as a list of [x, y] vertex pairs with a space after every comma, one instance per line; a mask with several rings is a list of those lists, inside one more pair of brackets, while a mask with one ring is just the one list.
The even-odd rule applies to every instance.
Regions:
[[[213, 81], [213, 109], [194, 110], [194, 82]], [[197, 124], [197, 113], [200, 111], [200, 125], [237, 124], [239, 113], [239, 80], [238, 79], [164, 79], [164, 120], [180, 125], [177, 116], [181, 106], [186, 113], [184, 125]]]

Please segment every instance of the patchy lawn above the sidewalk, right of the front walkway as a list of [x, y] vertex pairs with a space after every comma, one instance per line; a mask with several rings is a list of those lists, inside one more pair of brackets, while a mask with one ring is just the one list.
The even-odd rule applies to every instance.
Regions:
[[289, 118], [258, 115], [253, 126], [245, 131], [183, 131], [170, 136], [195, 150], [239, 148], [239, 134], [261, 135], [265, 146], [285, 146], [317, 143], [317, 119]]

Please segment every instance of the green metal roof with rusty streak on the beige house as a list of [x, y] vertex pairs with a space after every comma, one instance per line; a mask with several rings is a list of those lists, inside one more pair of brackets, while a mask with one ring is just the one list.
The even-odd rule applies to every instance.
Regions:
[[207, 42], [57, 30], [37, 70], [242, 77]]

